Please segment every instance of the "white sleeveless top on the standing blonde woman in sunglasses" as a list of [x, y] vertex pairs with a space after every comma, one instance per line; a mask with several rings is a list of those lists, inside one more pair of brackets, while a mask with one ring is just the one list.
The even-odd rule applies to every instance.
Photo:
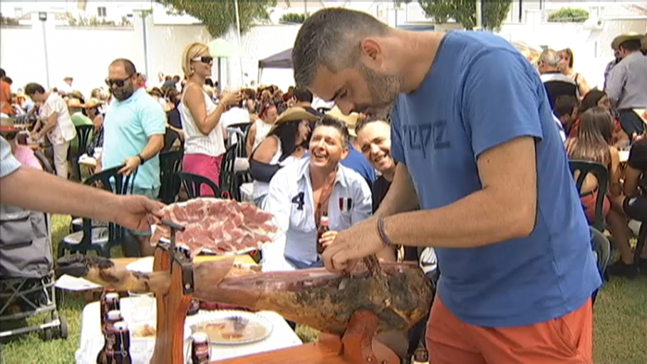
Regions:
[[[205, 91], [202, 91], [202, 94], [205, 96], [207, 115], [210, 115], [216, 110], [216, 104], [213, 103]], [[226, 150], [224, 148], [222, 125], [216, 125], [209, 132], [209, 135], [204, 135], [197, 128], [191, 110], [187, 108], [184, 102], [184, 95], [182, 95], [182, 103], [180, 105], [180, 120], [182, 120], [182, 130], [184, 130], [186, 135], [185, 154], [202, 154], [208, 155], [209, 157], [223, 155]]]

